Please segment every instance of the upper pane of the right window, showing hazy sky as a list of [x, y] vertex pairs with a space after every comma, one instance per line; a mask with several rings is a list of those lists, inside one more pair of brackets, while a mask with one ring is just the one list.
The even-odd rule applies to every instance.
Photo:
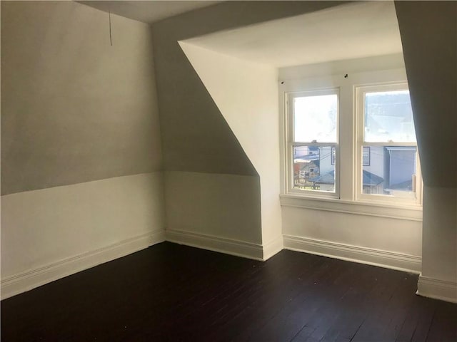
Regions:
[[416, 142], [408, 90], [365, 94], [366, 142]]

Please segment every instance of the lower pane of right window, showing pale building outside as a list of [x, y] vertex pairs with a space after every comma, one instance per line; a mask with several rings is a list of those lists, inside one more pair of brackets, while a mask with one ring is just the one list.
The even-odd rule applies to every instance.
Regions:
[[363, 194], [396, 197], [414, 195], [416, 147], [363, 146], [362, 148]]

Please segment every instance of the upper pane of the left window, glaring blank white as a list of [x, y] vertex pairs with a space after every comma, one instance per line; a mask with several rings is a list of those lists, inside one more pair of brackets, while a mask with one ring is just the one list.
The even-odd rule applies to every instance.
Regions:
[[338, 96], [293, 98], [293, 137], [296, 142], [336, 142]]

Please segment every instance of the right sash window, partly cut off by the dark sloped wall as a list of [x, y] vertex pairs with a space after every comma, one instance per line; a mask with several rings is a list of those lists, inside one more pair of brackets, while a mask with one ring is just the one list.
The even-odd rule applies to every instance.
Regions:
[[357, 197], [417, 202], [413, 110], [406, 83], [356, 87]]

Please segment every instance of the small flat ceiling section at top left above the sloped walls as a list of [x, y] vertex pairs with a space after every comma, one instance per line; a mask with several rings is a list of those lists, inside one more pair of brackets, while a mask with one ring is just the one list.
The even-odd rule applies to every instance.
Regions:
[[76, 1], [113, 14], [152, 24], [221, 1]]

